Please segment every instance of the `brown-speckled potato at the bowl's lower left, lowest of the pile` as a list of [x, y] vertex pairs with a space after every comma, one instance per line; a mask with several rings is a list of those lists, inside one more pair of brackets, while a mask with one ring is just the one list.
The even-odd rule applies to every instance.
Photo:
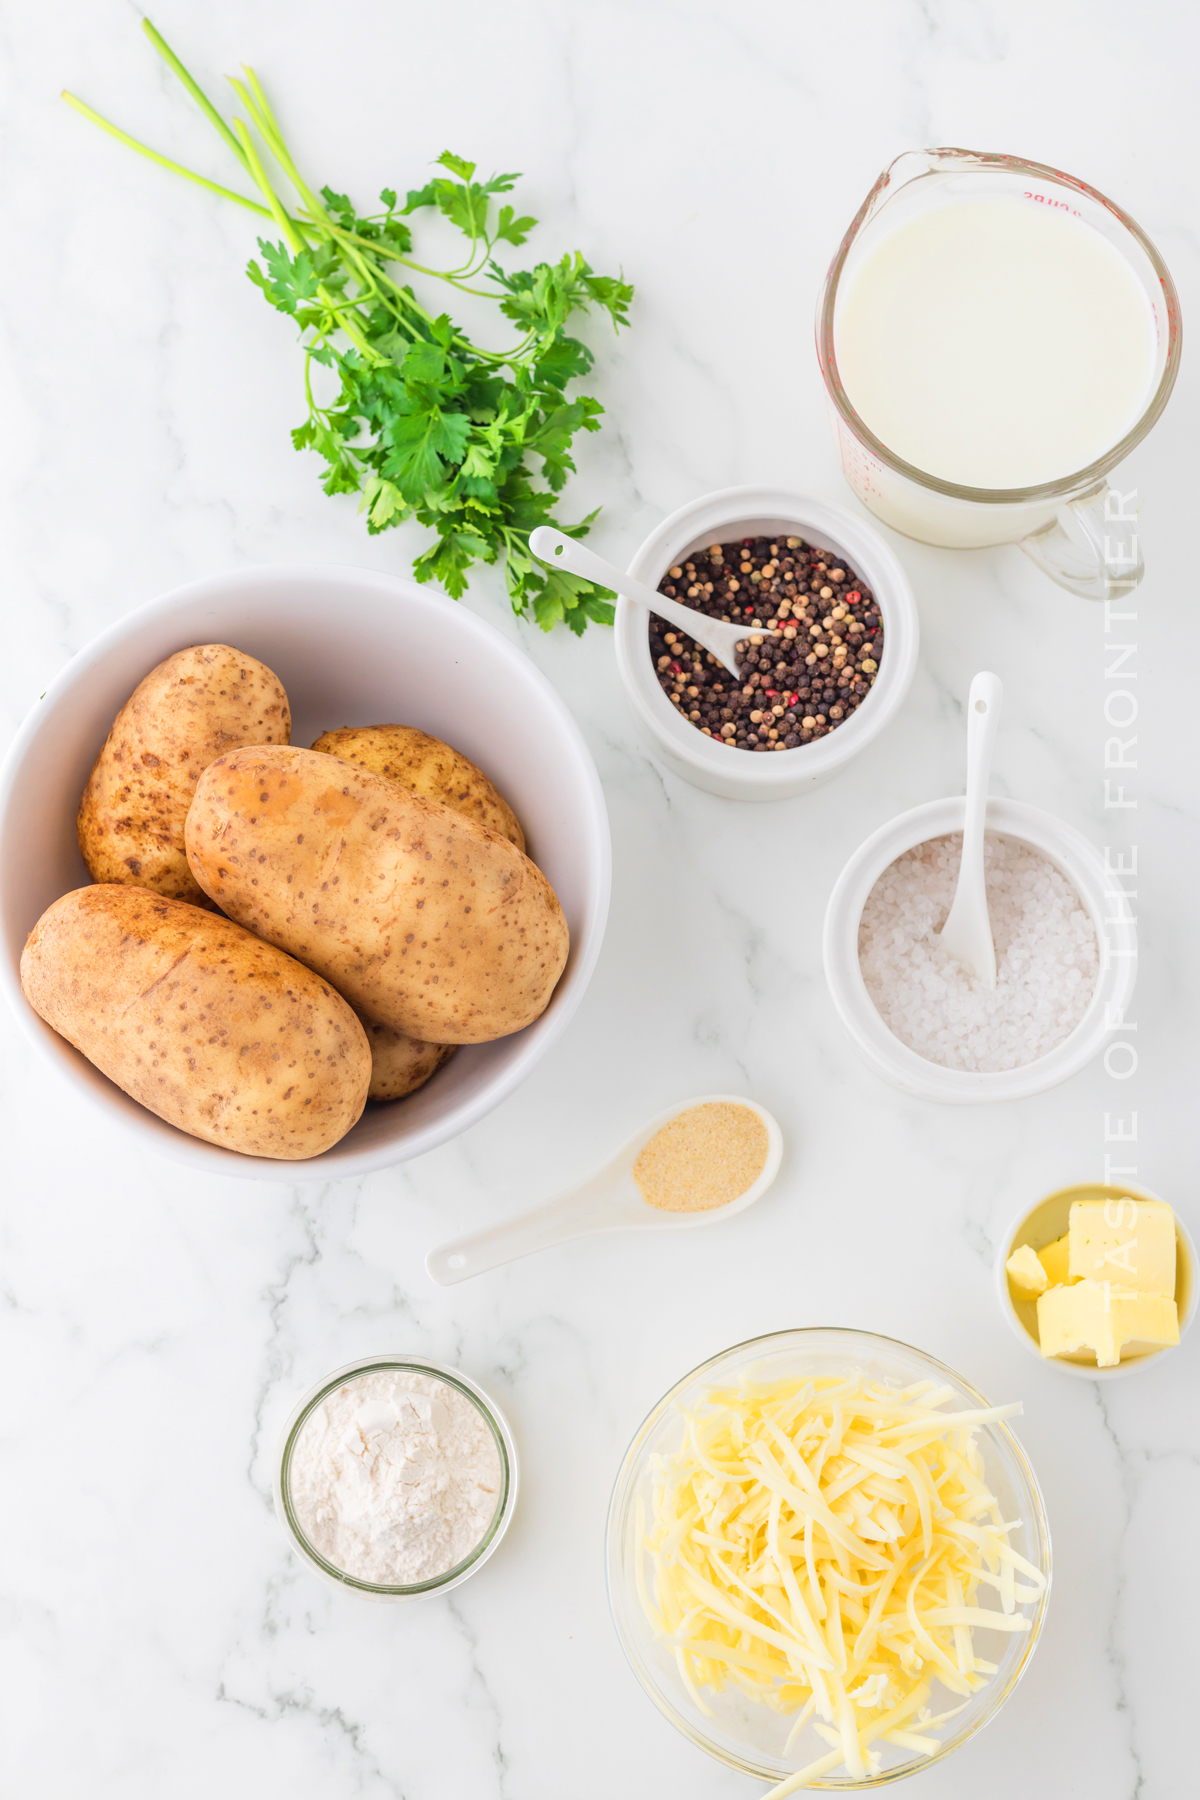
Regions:
[[146, 887], [77, 887], [29, 934], [22, 986], [59, 1037], [205, 1143], [320, 1156], [371, 1082], [362, 1024], [333, 986], [232, 920]]

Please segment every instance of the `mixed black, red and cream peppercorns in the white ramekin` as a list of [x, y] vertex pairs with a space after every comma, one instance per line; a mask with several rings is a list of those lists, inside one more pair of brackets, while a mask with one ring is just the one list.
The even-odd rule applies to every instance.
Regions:
[[[874, 594], [846, 560], [802, 538], [711, 544], [658, 592], [729, 623], [747, 621], [734, 679], [714, 655], [651, 614], [662, 691], [698, 731], [738, 751], [792, 751], [837, 731], [871, 693], [883, 652]], [[756, 637], [756, 632], [783, 637]]]

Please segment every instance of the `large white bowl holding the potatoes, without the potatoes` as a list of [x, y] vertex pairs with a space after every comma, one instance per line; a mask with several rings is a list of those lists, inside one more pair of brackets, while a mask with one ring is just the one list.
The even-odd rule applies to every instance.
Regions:
[[[20, 988], [27, 932], [52, 900], [88, 880], [76, 808], [108, 727], [157, 662], [203, 643], [234, 644], [279, 675], [293, 743], [338, 725], [398, 722], [477, 761], [513, 805], [570, 925], [567, 970], [534, 1024], [461, 1049], [408, 1100], [369, 1105], [338, 1145], [299, 1163], [237, 1156], [167, 1125], [43, 1024]], [[72, 1089], [65, 1103], [92, 1100], [142, 1143], [210, 1174], [365, 1175], [466, 1130], [547, 1053], [596, 967], [610, 871], [604, 796], [579, 727], [497, 630], [466, 607], [371, 569], [237, 569], [119, 619], [67, 664], [16, 734], [0, 770], [0, 981], [32, 1044]]]

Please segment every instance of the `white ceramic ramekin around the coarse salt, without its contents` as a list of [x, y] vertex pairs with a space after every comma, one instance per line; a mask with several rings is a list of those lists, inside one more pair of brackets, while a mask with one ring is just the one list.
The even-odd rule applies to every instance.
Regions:
[[[1016, 837], [1047, 857], [1072, 884], [1087, 907], [1101, 947], [1101, 970], [1092, 1003], [1074, 1031], [1047, 1057], [1027, 1062], [1020, 1069], [999, 1075], [979, 1075], [970, 1069], [943, 1069], [909, 1049], [883, 1024], [874, 1001], [867, 994], [858, 967], [858, 923], [867, 895], [896, 857], [930, 837], [946, 837], [963, 830], [966, 801], [963, 796], [934, 799], [914, 806], [889, 824], [880, 826], [855, 851], [837, 878], [824, 927], [824, 965], [829, 994], [842, 1024], [876, 1075], [887, 1076], [896, 1087], [923, 1100], [977, 1103], [982, 1100], [1025, 1100], [1056, 1087], [1076, 1075], [1085, 1062], [1097, 1057], [1114, 1037], [1133, 994], [1137, 974], [1137, 927], [1112, 923], [1105, 895], [1121, 889], [1119, 878], [1105, 873], [1099, 850], [1072, 826], [1049, 812], [1025, 806], [1024, 801], [988, 801], [988, 830]], [[1123, 891], [1123, 889], [1121, 889]], [[1115, 907], [1114, 911], [1124, 911]]]

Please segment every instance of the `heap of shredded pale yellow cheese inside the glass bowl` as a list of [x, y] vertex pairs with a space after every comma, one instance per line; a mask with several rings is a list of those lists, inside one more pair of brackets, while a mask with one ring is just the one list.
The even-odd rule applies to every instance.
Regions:
[[810, 1719], [833, 1746], [765, 1800], [876, 1773], [878, 1741], [932, 1755], [954, 1717], [930, 1715], [932, 1681], [966, 1701], [997, 1670], [973, 1633], [1029, 1631], [1016, 1607], [1045, 1577], [1009, 1544], [977, 1436], [1020, 1402], [937, 1411], [952, 1393], [858, 1372], [712, 1388], [655, 1458], [639, 1591], [694, 1705], [732, 1683], [795, 1715], [788, 1750]]

